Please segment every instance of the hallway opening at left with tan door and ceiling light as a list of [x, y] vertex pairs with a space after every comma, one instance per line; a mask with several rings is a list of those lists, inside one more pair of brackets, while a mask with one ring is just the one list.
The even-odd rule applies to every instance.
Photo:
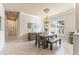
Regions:
[[16, 42], [17, 40], [17, 20], [19, 12], [6, 11], [6, 29], [7, 29], [7, 42]]

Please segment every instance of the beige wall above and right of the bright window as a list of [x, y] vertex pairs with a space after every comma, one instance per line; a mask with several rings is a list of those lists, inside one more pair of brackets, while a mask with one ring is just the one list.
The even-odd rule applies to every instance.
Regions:
[[74, 9], [68, 10], [66, 12], [60, 13], [52, 17], [52, 20], [55, 19], [63, 19], [64, 20], [64, 38], [68, 39], [69, 32], [75, 32], [76, 24], [75, 24], [75, 12]]

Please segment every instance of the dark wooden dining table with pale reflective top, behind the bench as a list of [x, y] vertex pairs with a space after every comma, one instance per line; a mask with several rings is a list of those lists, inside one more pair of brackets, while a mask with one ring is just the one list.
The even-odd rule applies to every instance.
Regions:
[[46, 48], [48, 48], [48, 43], [47, 43], [47, 41], [49, 40], [49, 38], [52, 38], [53, 36], [56, 36], [57, 37], [57, 35], [56, 34], [40, 34], [40, 37], [41, 38], [43, 38], [43, 49], [46, 49]]

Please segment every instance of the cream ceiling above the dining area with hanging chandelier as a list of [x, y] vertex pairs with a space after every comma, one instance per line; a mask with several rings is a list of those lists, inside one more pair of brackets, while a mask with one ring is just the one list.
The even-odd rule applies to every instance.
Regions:
[[39, 17], [45, 16], [45, 8], [50, 9], [48, 15], [56, 15], [74, 8], [72, 3], [3, 3], [3, 6], [8, 11], [26, 12]]

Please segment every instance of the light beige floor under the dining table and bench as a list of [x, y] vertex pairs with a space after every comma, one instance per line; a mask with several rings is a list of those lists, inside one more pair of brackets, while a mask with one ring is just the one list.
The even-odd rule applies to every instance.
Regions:
[[35, 47], [35, 41], [7, 42], [0, 55], [72, 55], [73, 45], [62, 40], [61, 46], [54, 44], [50, 50]]

